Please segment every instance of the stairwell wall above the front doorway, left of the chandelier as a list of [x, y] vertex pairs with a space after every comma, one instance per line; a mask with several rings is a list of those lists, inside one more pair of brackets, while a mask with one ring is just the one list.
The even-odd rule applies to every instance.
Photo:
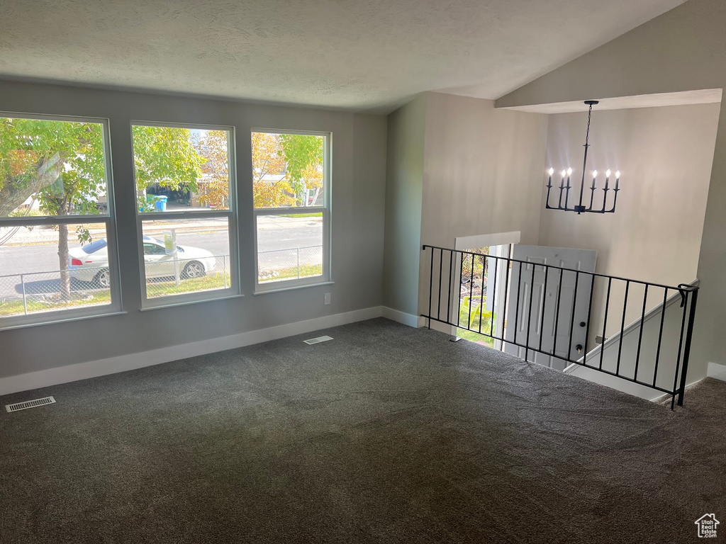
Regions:
[[536, 244], [547, 115], [495, 110], [493, 100], [429, 93], [423, 243], [521, 231]]

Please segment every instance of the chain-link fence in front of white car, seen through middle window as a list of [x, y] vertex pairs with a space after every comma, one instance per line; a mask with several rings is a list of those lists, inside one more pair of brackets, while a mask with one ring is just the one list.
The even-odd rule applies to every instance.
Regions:
[[229, 255], [146, 261], [147, 298], [230, 287]]

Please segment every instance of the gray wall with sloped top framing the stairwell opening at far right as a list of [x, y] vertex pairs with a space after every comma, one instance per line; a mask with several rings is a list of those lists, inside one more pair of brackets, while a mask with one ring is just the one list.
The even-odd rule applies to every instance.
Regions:
[[[522, 106], [726, 87], [726, 2], [690, 0], [497, 100]], [[722, 102], [703, 223], [690, 379], [726, 363], [726, 115]]]

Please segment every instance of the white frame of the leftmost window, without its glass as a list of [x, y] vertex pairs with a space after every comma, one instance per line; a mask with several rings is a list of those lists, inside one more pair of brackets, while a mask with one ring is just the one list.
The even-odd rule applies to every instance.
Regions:
[[[76, 225], [78, 223], [104, 224], [106, 228], [108, 271], [111, 285], [109, 288], [111, 302], [77, 308], [65, 308], [48, 312], [25, 313], [20, 316], [0, 317], [0, 330], [17, 329], [23, 326], [36, 326], [50, 323], [62, 323], [77, 319], [102, 317], [123, 313], [121, 300], [121, 271], [119, 268], [118, 241], [116, 237], [115, 192], [113, 184], [113, 168], [111, 157], [110, 121], [108, 118], [87, 117], [83, 115], [48, 115], [40, 113], [0, 111], [0, 118], [30, 119], [40, 121], [66, 121], [75, 123], [95, 123], [101, 125], [103, 142], [103, 162], [106, 181], [105, 214], [83, 215], [36, 215], [33, 217], [3, 217], [1, 227], [14, 226], [53, 226], [60, 224]], [[17, 274], [13, 274], [17, 275]]]

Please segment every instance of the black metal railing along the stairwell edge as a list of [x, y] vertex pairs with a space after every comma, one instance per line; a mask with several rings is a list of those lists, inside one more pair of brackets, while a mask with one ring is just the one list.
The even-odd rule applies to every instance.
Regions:
[[525, 360], [531, 352], [537, 362], [590, 368], [670, 395], [672, 408], [676, 398], [683, 404], [696, 283], [672, 287], [431, 245], [423, 251], [429, 328], [434, 321], [473, 331], [510, 353], [523, 350]]

